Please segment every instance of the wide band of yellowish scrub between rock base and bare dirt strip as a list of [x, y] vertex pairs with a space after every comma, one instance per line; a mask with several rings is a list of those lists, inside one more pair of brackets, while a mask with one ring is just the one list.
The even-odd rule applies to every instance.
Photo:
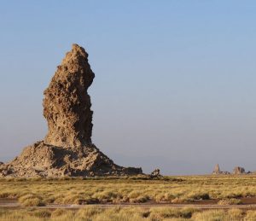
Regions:
[[105, 177], [1, 179], [0, 198], [16, 198], [23, 206], [99, 203], [191, 203], [215, 200], [240, 204], [256, 196], [256, 176]]

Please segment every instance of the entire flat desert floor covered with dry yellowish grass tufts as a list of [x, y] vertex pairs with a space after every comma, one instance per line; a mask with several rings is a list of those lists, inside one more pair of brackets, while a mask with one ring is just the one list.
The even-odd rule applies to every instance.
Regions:
[[0, 220], [256, 220], [256, 175], [5, 178]]

